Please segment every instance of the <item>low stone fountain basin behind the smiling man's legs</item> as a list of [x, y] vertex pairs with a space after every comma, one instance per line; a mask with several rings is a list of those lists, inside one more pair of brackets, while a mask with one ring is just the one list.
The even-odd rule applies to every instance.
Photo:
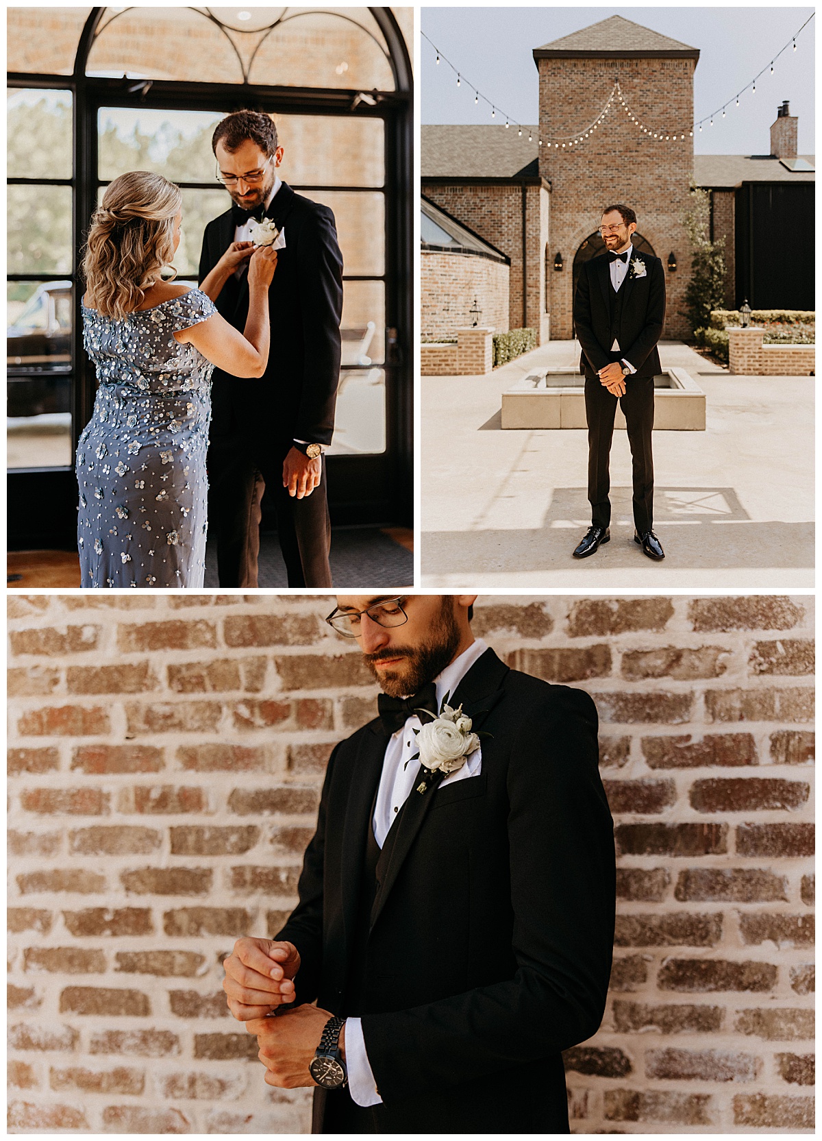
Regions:
[[[653, 378], [653, 427], [705, 431], [705, 393], [685, 369]], [[615, 428], [625, 428], [617, 405]], [[503, 428], [587, 428], [585, 378], [572, 369], [531, 372], [503, 393]]]

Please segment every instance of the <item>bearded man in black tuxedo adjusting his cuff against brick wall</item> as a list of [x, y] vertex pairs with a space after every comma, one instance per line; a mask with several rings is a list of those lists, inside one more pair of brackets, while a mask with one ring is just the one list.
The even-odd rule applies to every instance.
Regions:
[[[266, 1082], [318, 1085], [315, 1133], [569, 1132], [561, 1051], [613, 945], [596, 710], [474, 639], [473, 601], [339, 599], [380, 717], [332, 753], [295, 911], [225, 962]], [[443, 701], [472, 723], [442, 735]]]

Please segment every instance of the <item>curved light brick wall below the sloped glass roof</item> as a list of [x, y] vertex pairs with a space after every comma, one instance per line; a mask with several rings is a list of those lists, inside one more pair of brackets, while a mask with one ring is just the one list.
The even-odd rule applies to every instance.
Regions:
[[457, 329], [473, 324], [474, 301], [483, 325], [507, 333], [510, 275], [508, 266], [490, 258], [423, 250], [420, 268], [423, 339], [456, 337]]

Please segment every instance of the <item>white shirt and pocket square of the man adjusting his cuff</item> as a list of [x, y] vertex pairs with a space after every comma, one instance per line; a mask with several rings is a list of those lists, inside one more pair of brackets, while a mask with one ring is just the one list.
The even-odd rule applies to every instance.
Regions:
[[[466, 650], [456, 657], [450, 665], [447, 665], [439, 677], [434, 678], [437, 686], [437, 707], [442, 704], [446, 694], [454, 696], [457, 686], [469, 672], [471, 666], [488, 649], [488, 644], [477, 638]], [[448, 702], [450, 705], [450, 701]], [[409, 759], [417, 752], [416, 735], [414, 729], [421, 729], [422, 722], [414, 714], [406, 720], [406, 723], [397, 733], [392, 734], [385, 747], [385, 758], [382, 764], [380, 787], [374, 806], [374, 817], [372, 826], [374, 839], [380, 848], [385, 843], [385, 836], [393, 823], [394, 817], [405, 803], [414, 787], [420, 762]], [[457, 780], [466, 780], [470, 777], [479, 776], [482, 768], [482, 750], [477, 748], [469, 756], [465, 764], [456, 772], [449, 774], [439, 785], [440, 788]], [[436, 795], [436, 793], [434, 793]], [[358, 1018], [345, 1020], [345, 1067], [348, 1069], [348, 1087], [352, 1099], [358, 1106], [379, 1106], [382, 1098], [377, 1093], [376, 1082], [372, 1073], [368, 1054], [365, 1049], [363, 1037], [363, 1023]]]

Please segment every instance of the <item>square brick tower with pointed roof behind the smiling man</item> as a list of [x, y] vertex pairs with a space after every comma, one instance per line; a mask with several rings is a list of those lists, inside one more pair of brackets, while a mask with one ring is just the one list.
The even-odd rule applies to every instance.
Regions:
[[[551, 183], [545, 276], [552, 340], [571, 337], [575, 258], [591, 254], [592, 245], [583, 243], [595, 233], [602, 208], [612, 202], [634, 208], [637, 234], [666, 267], [668, 306], [662, 335], [689, 334], [678, 313], [691, 264], [681, 219], [689, 208], [693, 178], [691, 131], [698, 59], [697, 48], [621, 16], [534, 49], [543, 139], [539, 173]], [[632, 122], [615, 94], [604, 120], [583, 138], [602, 114], [617, 82], [630, 113], [648, 133]], [[661, 137], [654, 138], [654, 133]], [[572, 145], [575, 138], [580, 141]], [[554, 269], [558, 253], [562, 256], [561, 270]], [[668, 268], [670, 253], [676, 257], [675, 270]]]

